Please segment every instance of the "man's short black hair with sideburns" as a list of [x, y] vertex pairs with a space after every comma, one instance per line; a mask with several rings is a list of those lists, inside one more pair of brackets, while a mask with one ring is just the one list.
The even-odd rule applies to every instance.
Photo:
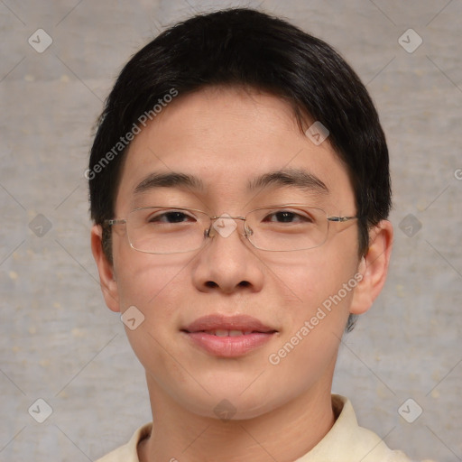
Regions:
[[[134, 132], [143, 114], [155, 115], [153, 107], [172, 89], [184, 96], [211, 86], [268, 92], [291, 104], [300, 129], [306, 115], [328, 128], [353, 184], [364, 255], [370, 227], [388, 217], [392, 204], [388, 149], [371, 97], [326, 42], [281, 18], [231, 8], [195, 15], [162, 32], [128, 61], [106, 99], [87, 178], [91, 217], [103, 226], [107, 258], [112, 261], [111, 232], [104, 221], [114, 216], [129, 144], [125, 134]], [[350, 317], [347, 330], [353, 325]]]

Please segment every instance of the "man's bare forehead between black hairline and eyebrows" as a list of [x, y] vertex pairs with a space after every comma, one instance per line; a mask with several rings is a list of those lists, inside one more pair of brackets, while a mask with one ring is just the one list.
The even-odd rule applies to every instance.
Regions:
[[[116, 212], [130, 207], [149, 177], [171, 173], [199, 180], [188, 190], [197, 189], [204, 199], [224, 206], [254, 194], [262, 178], [278, 171], [299, 178], [306, 173], [313, 184], [319, 180], [326, 186], [334, 203], [354, 204], [347, 169], [328, 140], [312, 143], [300, 131], [291, 106], [266, 93], [205, 88], [180, 95], [135, 136], [125, 155]], [[161, 188], [178, 189], [180, 183]], [[283, 180], [271, 186], [283, 188]]]

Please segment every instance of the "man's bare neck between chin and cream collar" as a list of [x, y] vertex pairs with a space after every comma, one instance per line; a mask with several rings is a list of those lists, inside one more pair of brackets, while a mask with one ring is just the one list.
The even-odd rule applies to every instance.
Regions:
[[148, 376], [152, 435], [141, 462], [291, 462], [314, 448], [334, 424], [330, 386], [322, 383], [283, 406], [247, 420], [219, 420], [185, 410]]

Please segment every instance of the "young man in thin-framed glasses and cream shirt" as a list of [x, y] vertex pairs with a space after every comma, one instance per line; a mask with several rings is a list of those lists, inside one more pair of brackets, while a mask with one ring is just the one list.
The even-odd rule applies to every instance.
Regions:
[[122, 70], [87, 176], [152, 406], [101, 462], [409, 460], [331, 395], [393, 229], [378, 116], [325, 42], [249, 9], [177, 24]]

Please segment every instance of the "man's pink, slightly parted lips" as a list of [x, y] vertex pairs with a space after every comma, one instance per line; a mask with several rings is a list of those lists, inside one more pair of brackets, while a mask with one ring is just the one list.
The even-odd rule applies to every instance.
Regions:
[[[243, 335], [217, 337], [213, 330], [241, 330]], [[186, 328], [181, 328], [189, 340], [210, 355], [221, 357], [245, 356], [257, 347], [270, 341], [277, 330], [264, 325], [260, 320], [247, 315], [226, 317], [208, 315], [196, 319]], [[251, 332], [244, 334], [244, 332]]]

